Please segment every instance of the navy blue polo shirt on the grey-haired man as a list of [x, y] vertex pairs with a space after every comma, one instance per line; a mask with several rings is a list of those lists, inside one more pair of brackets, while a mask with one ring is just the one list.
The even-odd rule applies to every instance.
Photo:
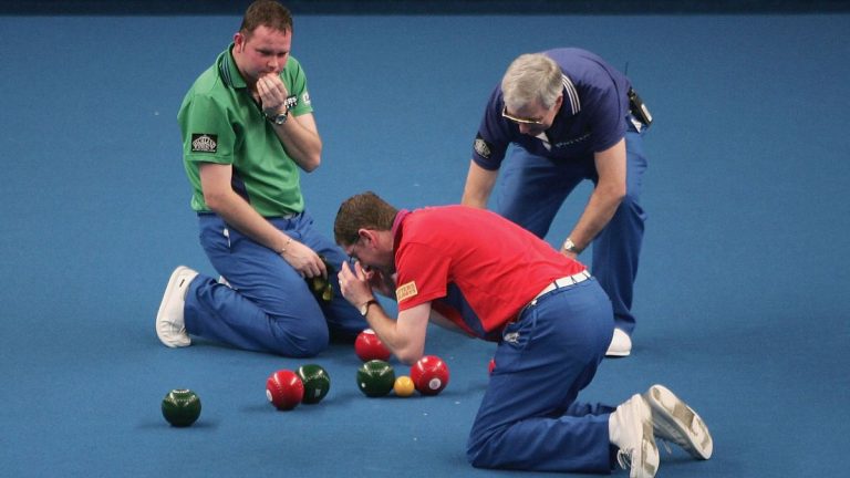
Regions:
[[554, 160], [592, 157], [625, 136], [629, 115], [629, 79], [595, 54], [566, 48], [543, 52], [563, 72], [563, 103], [543, 138], [524, 135], [516, 123], [501, 116], [505, 100], [497, 85], [487, 102], [473, 147], [473, 160], [495, 170], [510, 143]]

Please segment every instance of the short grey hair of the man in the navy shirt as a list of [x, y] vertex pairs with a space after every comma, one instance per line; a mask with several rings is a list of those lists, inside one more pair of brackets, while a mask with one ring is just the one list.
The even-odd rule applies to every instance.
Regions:
[[501, 94], [508, 110], [517, 111], [539, 101], [551, 108], [563, 91], [561, 67], [542, 53], [517, 56], [501, 79]]

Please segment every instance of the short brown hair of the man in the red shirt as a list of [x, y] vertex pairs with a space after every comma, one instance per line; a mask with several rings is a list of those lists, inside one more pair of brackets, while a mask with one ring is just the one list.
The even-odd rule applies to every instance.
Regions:
[[357, 241], [360, 229], [392, 230], [398, 209], [366, 191], [345, 199], [333, 221], [333, 237], [340, 246]]

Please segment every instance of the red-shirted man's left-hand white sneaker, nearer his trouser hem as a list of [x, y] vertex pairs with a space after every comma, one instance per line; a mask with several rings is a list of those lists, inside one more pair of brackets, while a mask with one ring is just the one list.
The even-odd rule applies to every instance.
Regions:
[[652, 411], [635, 394], [616, 407], [609, 422], [611, 443], [620, 450], [616, 460], [631, 478], [653, 478], [659, 471], [659, 447], [652, 432]]

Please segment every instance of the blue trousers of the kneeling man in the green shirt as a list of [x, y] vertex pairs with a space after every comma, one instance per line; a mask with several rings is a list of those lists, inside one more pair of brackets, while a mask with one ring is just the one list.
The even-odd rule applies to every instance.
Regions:
[[[198, 222], [200, 243], [230, 287], [209, 276], [195, 278], [184, 308], [190, 335], [237, 349], [304, 357], [323, 351], [331, 334], [351, 337], [367, 328], [340, 293], [334, 272], [329, 274], [333, 301], [317, 301], [304, 279], [277, 252], [228, 227], [217, 215], [199, 215]], [[335, 243], [315, 231], [307, 212], [271, 222], [324, 256], [336, 270], [346, 260]]]

